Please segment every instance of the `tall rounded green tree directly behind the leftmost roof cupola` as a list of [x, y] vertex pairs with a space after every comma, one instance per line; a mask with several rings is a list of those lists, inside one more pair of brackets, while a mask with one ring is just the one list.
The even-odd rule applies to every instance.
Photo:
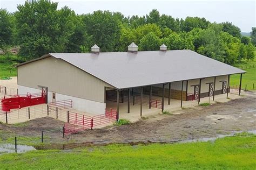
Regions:
[[95, 11], [84, 16], [85, 30], [90, 36], [89, 44], [97, 44], [102, 52], [117, 51], [120, 25], [109, 11]]

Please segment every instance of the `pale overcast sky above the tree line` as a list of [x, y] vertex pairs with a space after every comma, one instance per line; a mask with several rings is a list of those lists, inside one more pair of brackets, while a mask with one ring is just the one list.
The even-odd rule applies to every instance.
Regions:
[[[18, 4], [24, 0], [0, 0], [0, 8], [15, 12]], [[69, 6], [78, 14], [92, 13], [96, 10], [109, 10], [122, 12], [124, 16], [148, 14], [152, 9], [157, 9], [160, 14], [171, 15], [174, 18], [205, 17], [210, 22], [232, 22], [240, 27], [242, 32], [251, 32], [256, 27], [256, 0], [255, 1], [172, 1], [172, 0], [53, 0], [58, 2], [58, 9]]]

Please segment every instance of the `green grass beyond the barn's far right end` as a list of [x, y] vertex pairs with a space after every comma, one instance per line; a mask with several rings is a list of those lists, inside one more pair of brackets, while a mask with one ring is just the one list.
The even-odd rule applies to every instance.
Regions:
[[[249, 67], [251, 65], [251, 68]], [[253, 68], [254, 65], [254, 68]], [[245, 66], [247, 66], [247, 69], [245, 69]], [[245, 89], [245, 85], [247, 84], [247, 89], [252, 90], [253, 83], [254, 89], [256, 89], [256, 59], [254, 61], [248, 61], [247, 63], [241, 63], [239, 65], [236, 65], [236, 67], [243, 67], [244, 70], [246, 70], [247, 73], [242, 75], [242, 89]], [[240, 83], [240, 74], [231, 75], [230, 79], [230, 86], [237, 86], [239, 87]]]

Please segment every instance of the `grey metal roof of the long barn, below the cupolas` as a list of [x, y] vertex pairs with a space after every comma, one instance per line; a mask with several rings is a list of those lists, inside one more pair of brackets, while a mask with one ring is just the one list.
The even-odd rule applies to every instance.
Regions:
[[[165, 52], [50, 53], [49, 55], [65, 60], [118, 89], [246, 73], [244, 70], [187, 49]], [[43, 57], [45, 58], [46, 55]]]

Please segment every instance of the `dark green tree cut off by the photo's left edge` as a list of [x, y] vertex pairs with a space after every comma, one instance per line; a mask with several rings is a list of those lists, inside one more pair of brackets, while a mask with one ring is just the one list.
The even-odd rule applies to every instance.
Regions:
[[5, 9], [0, 9], [0, 49], [6, 50], [6, 46], [12, 44], [14, 24], [11, 14]]

